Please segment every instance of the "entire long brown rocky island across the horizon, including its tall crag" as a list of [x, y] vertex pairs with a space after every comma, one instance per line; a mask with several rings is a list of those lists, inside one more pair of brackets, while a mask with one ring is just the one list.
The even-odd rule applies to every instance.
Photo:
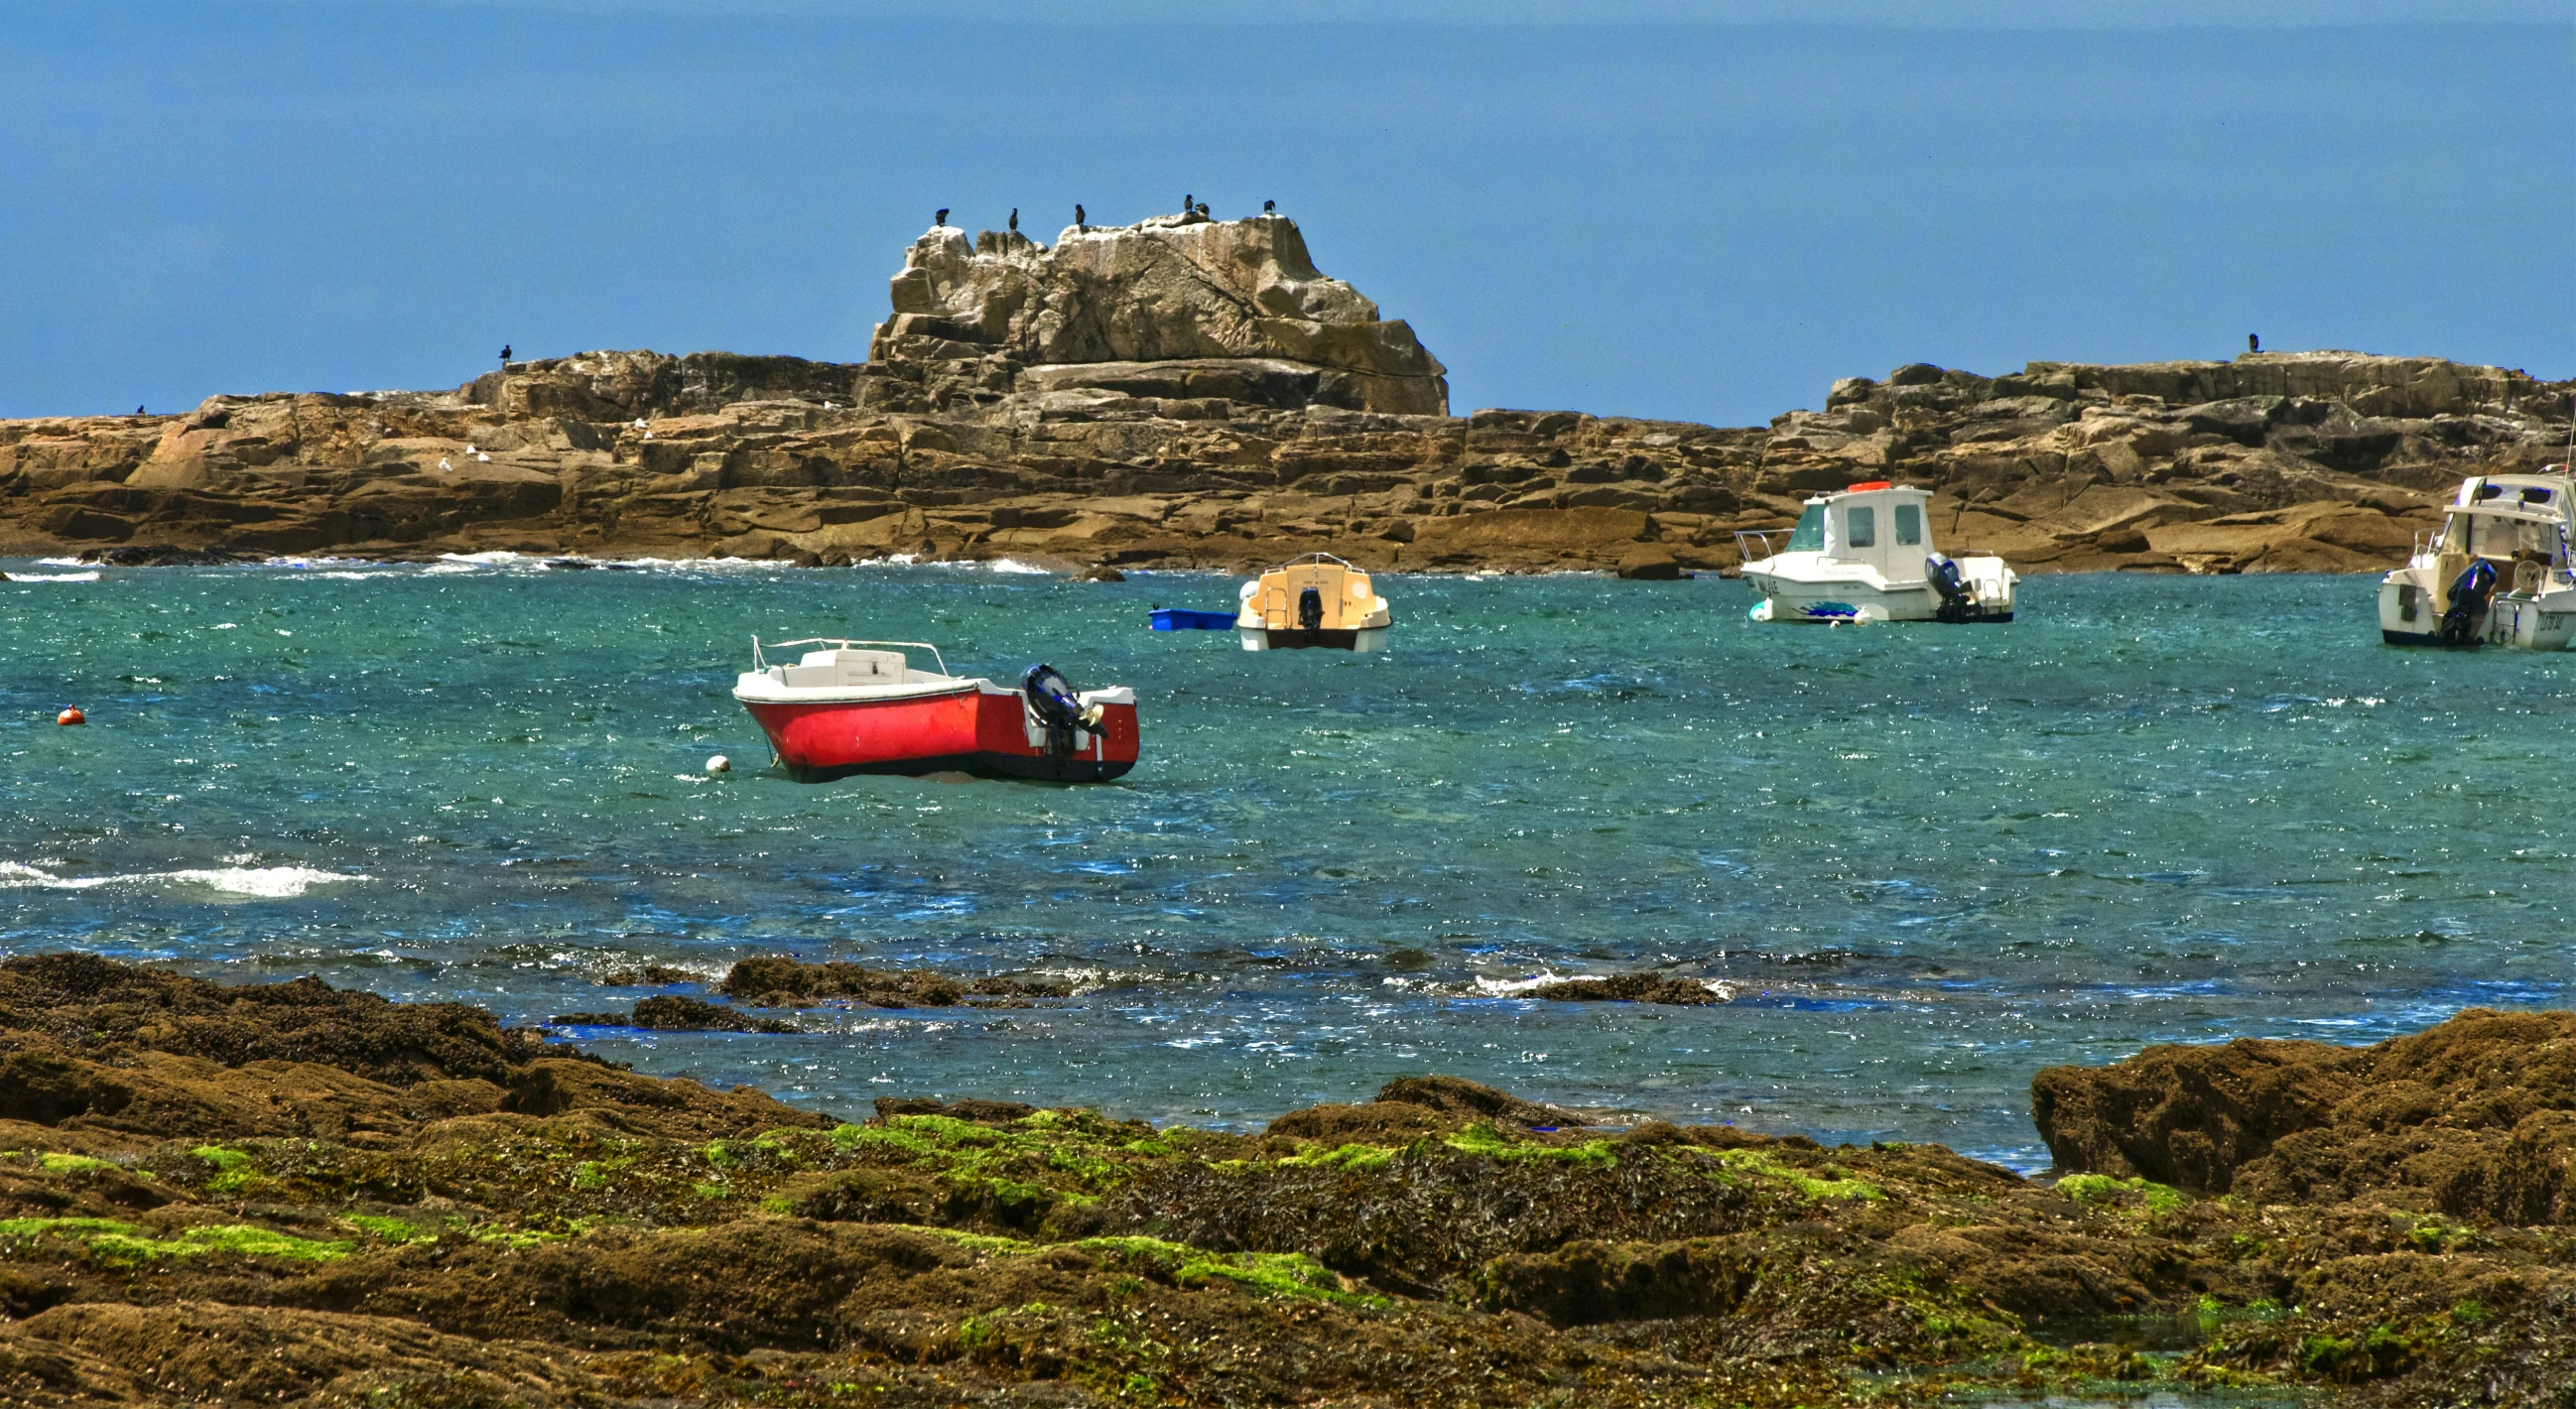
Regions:
[[2022, 572], [2360, 572], [2481, 469], [2563, 461], [2576, 381], [2439, 358], [1901, 366], [1716, 428], [1450, 415], [1404, 319], [1285, 216], [904, 252], [866, 363], [580, 353], [451, 392], [0, 422], [0, 551], [884, 556], [1731, 569], [1855, 479]]

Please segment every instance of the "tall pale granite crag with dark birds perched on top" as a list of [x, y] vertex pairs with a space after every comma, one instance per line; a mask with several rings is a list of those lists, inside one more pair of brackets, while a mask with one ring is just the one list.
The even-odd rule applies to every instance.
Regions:
[[1288, 216], [1066, 227], [1054, 247], [935, 227], [904, 252], [891, 294], [894, 317], [868, 345], [871, 407], [1144, 384], [1154, 397], [1448, 415], [1448, 368], [1404, 319], [1319, 273]]

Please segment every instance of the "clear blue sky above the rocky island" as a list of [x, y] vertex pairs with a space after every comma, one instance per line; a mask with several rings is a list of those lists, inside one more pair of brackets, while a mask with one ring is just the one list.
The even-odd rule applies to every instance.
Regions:
[[1185, 191], [1280, 201], [1461, 412], [2246, 332], [2576, 376], [2571, 59], [2494, 0], [18, 0], [0, 415], [858, 361], [933, 209]]

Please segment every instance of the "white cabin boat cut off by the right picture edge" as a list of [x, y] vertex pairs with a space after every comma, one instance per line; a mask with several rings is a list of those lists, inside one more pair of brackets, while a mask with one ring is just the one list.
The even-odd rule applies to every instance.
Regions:
[[2576, 564], [2568, 528], [2576, 479], [2473, 474], [2416, 536], [2406, 567], [2380, 580], [2380, 639], [2393, 647], [2514, 647], [2563, 652], [2576, 636]]

